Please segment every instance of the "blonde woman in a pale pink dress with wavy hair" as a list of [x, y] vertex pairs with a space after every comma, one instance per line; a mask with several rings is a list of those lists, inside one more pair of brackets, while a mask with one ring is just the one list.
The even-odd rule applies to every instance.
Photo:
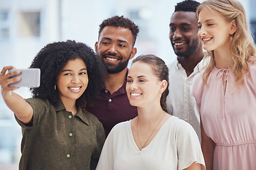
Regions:
[[245, 9], [235, 0], [208, 0], [197, 14], [210, 60], [193, 83], [206, 169], [255, 169], [256, 49]]

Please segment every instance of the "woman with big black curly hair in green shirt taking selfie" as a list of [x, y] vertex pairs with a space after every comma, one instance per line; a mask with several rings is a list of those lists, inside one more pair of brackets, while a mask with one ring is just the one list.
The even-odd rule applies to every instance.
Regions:
[[14, 93], [9, 84], [21, 71], [0, 74], [1, 95], [21, 125], [19, 169], [95, 169], [105, 142], [97, 118], [85, 111], [102, 89], [105, 70], [90, 47], [68, 40], [46, 45], [31, 68], [41, 69], [33, 98]]

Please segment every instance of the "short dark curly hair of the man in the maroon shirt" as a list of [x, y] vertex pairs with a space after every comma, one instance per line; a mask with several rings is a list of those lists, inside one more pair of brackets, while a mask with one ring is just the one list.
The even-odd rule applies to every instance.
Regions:
[[139, 27], [132, 22], [129, 18], [124, 18], [124, 16], [113, 16], [111, 18], [107, 18], [100, 24], [99, 37], [103, 28], [106, 26], [114, 26], [114, 27], [122, 27], [128, 28], [132, 31], [132, 37], [134, 39], [133, 45], [135, 44], [137, 35], [139, 33]]

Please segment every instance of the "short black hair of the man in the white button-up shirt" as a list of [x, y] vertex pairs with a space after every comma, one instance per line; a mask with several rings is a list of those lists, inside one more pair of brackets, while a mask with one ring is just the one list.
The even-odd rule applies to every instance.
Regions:
[[198, 1], [186, 0], [176, 4], [174, 12], [185, 11], [185, 12], [196, 12], [196, 8], [200, 5]]

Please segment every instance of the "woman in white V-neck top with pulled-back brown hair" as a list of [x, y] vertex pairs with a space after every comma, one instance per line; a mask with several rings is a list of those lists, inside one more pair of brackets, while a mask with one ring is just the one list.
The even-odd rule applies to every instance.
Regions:
[[138, 116], [112, 129], [97, 169], [205, 169], [195, 130], [166, 113], [168, 72], [154, 55], [133, 60], [126, 90]]

